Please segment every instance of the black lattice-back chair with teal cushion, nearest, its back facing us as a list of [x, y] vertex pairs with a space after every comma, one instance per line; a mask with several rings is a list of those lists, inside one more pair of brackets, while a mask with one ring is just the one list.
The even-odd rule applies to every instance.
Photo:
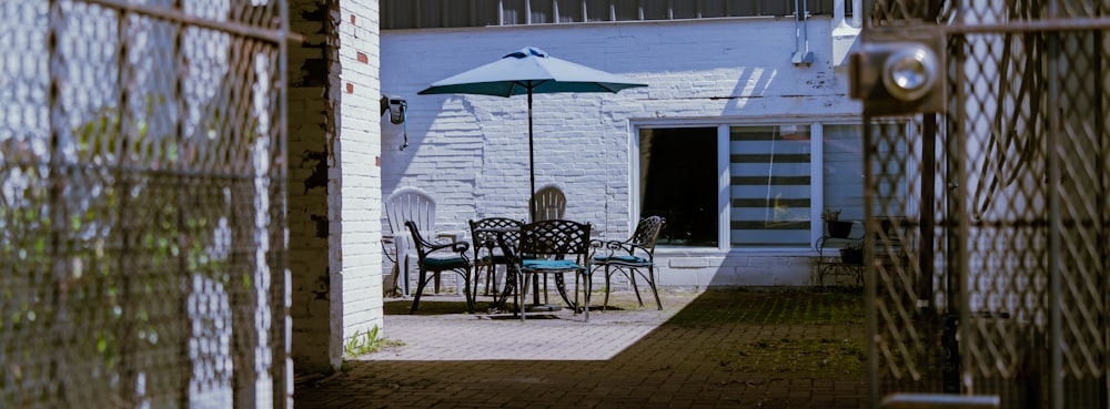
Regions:
[[[589, 321], [589, 224], [564, 219], [538, 221], [521, 227], [518, 254], [527, 257], [514, 257], [516, 262], [516, 304], [521, 320], [524, 320], [525, 299], [529, 280], [539, 279], [548, 274], [555, 274], [555, 285], [563, 300], [575, 314], [585, 313], [585, 321]], [[532, 258], [535, 257], [535, 258]], [[565, 275], [574, 274], [574, 301], [566, 295]], [[585, 286], [583, 307], [578, 306], [578, 289]]]

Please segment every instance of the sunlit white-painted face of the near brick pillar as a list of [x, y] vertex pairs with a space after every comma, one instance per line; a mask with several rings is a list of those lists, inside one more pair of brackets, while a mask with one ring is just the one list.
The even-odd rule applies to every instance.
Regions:
[[[333, 265], [343, 282], [344, 341], [374, 327], [385, 336], [382, 310], [382, 152], [379, 73], [379, 2], [344, 0], [340, 6], [340, 166], [333, 172]], [[337, 216], [337, 217], [334, 217]]]

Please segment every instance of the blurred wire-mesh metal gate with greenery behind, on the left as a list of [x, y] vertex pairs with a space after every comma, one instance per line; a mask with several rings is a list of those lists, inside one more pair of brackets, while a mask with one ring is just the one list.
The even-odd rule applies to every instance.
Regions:
[[0, 1], [0, 407], [286, 407], [283, 0]]

